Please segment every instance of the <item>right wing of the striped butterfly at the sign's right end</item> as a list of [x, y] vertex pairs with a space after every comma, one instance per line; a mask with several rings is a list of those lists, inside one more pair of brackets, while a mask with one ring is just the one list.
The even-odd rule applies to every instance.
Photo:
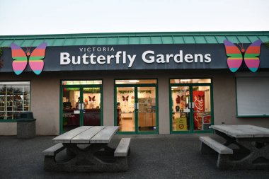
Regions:
[[261, 52], [261, 40], [256, 40], [251, 45], [249, 45], [248, 49], [245, 52], [244, 61], [246, 67], [250, 69], [252, 72], [256, 72], [260, 65], [260, 56]]

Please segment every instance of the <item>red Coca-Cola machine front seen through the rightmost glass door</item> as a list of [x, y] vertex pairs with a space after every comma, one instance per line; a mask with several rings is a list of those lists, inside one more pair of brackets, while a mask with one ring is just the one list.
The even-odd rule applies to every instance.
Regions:
[[[193, 91], [193, 103], [194, 103], [194, 127], [198, 129], [199, 120], [198, 115], [200, 112], [205, 112], [205, 91]], [[200, 127], [199, 127], [200, 128]]]

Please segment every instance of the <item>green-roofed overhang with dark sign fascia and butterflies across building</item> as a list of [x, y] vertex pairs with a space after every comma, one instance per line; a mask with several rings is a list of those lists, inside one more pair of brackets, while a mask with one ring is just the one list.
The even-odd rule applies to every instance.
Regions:
[[[261, 45], [269, 41], [269, 32], [205, 32], [0, 36], [3, 52], [0, 71], [40, 74], [41, 71], [228, 69], [224, 40], [237, 45], [236, 50], [238, 48], [229, 54], [231, 64], [241, 63], [244, 54], [240, 50], [259, 40], [255, 52], [249, 53], [246, 49], [248, 56], [253, 57], [248, 60], [256, 60], [256, 69], [269, 69], [269, 50]], [[35, 49], [38, 50], [34, 52]], [[241, 61], [233, 59], [237, 58], [234, 53]], [[252, 68], [245, 63], [239, 67]]]

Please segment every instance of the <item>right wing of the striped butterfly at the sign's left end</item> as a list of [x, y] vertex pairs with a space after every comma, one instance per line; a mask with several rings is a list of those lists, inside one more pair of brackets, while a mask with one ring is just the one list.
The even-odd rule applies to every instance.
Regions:
[[45, 57], [46, 47], [47, 43], [44, 42], [38, 45], [38, 47], [36, 47], [30, 55], [29, 65], [35, 74], [40, 74], [44, 67], [44, 62], [42, 59]]

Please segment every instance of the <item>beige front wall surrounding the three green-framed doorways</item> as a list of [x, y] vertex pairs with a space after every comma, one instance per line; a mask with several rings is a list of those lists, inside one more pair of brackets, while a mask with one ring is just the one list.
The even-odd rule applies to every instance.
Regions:
[[[236, 117], [235, 77], [228, 70], [24, 72], [1, 74], [0, 81], [31, 81], [31, 111], [38, 135], [59, 134], [59, 87], [61, 79], [103, 80], [103, 125], [114, 125], [114, 79], [158, 79], [159, 134], [170, 133], [169, 78], [212, 78], [214, 124], [250, 124], [269, 127], [268, 117]], [[0, 122], [0, 135], [16, 135], [16, 122]]]

